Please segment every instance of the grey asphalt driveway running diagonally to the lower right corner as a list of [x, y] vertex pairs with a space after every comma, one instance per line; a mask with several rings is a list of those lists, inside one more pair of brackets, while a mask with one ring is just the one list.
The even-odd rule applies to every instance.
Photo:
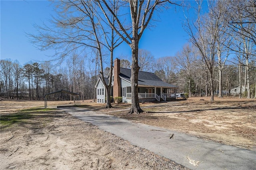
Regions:
[[[81, 108], [63, 108], [82, 121], [116, 134], [131, 144], [196, 170], [256, 170], [256, 151], [203, 140]], [[171, 122], [170, 122], [171, 123]]]

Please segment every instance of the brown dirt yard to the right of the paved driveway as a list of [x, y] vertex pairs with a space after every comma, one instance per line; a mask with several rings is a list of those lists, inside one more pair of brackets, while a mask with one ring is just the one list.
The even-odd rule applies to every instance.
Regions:
[[186, 101], [143, 103], [145, 113], [128, 115], [107, 111], [110, 115], [168, 128], [200, 138], [256, 150], [256, 99], [233, 97], [191, 97]]

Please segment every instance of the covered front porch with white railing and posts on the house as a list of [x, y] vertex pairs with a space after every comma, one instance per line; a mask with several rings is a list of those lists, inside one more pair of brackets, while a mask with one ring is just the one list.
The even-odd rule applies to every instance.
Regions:
[[[177, 88], [164, 88], [164, 87], [138, 87], [138, 97], [139, 99], [156, 99], [160, 101], [176, 99], [176, 89]], [[126, 99], [132, 98], [132, 93], [130, 88], [126, 87]]]

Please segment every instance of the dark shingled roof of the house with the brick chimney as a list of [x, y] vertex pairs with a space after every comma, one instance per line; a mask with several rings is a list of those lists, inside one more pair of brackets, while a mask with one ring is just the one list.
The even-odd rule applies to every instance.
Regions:
[[[126, 69], [126, 68], [120, 68], [120, 75], [121, 78], [131, 82], [131, 69]], [[145, 85], [145, 86], [154, 86], [154, 87], [176, 87], [175, 85], [171, 85], [169, 83], [166, 83], [162, 81], [157, 75], [154, 73], [149, 73], [145, 71], [139, 71], [138, 75], [138, 85]]]

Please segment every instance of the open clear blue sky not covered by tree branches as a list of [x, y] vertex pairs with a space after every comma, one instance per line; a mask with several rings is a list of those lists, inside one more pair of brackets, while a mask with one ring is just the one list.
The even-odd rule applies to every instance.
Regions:
[[[52, 2], [30, 0], [0, 1], [0, 57], [1, 59], [18, 60], [21, 65], [32, 61], [50, 59], [52, 50], [40, 51], [28, 42], [25, 32], [35, 33], [33, 24], [42, 24], [54, 16]], [[184, 14], [175, 12], [174, 7], [159, 14], [155, 27], [145, 30], [139, 48], [146, 49], [155, 58], [173, 56], [188, 42], [188, 35], [182, 28]], [[114, 52], [114, 58], [131, 55], [130, 47], [124, 42]]]

